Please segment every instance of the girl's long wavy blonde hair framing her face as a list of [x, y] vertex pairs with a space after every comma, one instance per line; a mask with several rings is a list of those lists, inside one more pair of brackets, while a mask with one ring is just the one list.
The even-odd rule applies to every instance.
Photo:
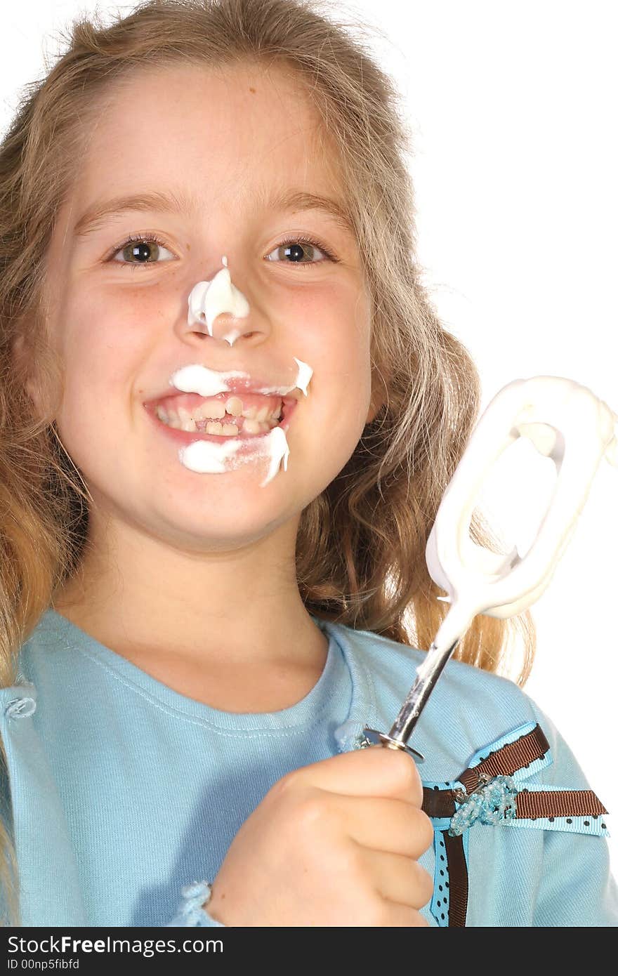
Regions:
[[[480, 385], [421, 282], [406, 163], [412, 140], [397, 94], [364, 43], [366, 26], [336, 23], [340, 14], [340, 4], [311, 0], [149, 0], [107, 25], [99, 13], [82, 15], [47, 76], [25, 86], [0, 143], [2, 686], [15, 683], [21, 644], [88, 547], [88, 489], [54, 421], [63, 376], [47, 332], [46, 259], [57, 212], [107, 86], [141, 67], [179, 63], [275, 62], [293, 72], [336, 147], [371, 300], [373, 402], [381, 405], [346, 467], [302, 513], [298, 584], [319, 618], [430, 646], [448, 607], [436, 599], [425, 547], [477, 420]], [[27, 354], [16, 357], [16, 344]], [[32, 369], [43, 404], [36, 413], [25, 389]], [[471, 535], [503, 550], [478, 509]], [[523, 684], [536, 642], [529, 612], [510, 621], [477, 616], [455, 656], [498, 671], [517, 633]], [[4, 744], [0, 754], [6, 767]], [[11, 824], [0, 842], [13, 924]]]

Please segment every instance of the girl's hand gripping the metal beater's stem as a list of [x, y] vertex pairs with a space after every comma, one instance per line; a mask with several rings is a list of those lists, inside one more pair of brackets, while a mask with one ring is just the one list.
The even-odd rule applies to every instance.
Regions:
[[422, 802], [414, 760], [383, 746], [294, 770], [235, 835], [208, 913], [232, 926], [427, 926]]

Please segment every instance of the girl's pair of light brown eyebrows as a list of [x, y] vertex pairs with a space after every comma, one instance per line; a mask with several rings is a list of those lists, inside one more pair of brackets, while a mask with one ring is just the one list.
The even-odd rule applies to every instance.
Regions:
[[[333, 219], [342, 230], [353, 234], [350, 216], [345, 207], [337, 200], [317, 193], [307, 193], [304, 190], [290, 189], [277, 193], [264, 200], [265, 206], [272, 210], [321, 210]], [[111, 197], [92, 204], [79, 218], [73, 227], [76, 237], [86, 237], [99, 230], [102, 224], [111, 217], [127, 211], [158, 211], [164, 214], [186, 213], [197, 216], [200, 207], [194, 196], [182, 192], [169, 191], [167, 193], [152, 191], [134, 193], [128, 196]]]

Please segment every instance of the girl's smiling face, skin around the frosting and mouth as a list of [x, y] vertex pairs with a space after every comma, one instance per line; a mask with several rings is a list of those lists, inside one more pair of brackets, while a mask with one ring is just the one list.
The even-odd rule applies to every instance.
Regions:
[[[102, 106], [55, 228], [50, 281], [65, 364], [59, 432], [115, 524], [194, 551], [259, 539], [300, 517], [373, 416], [368, 299], [352, 232], [324, 210], [268, 203], [303, 191], [343, 204], [319, 136], [309, 102], [277, 70], [142, 72]], [[93, 206], [144, 193], [190, 197], [194, 209], [124, 210], [76, 232]], [[159, 244], [136, 259], [126, 241], [138, 233]], [[308, 237], [323, 250], [306, 244], [300, 263], [281, 246]], [[242, 329], [232, 346], [217, 338], [227, 332], [221, 323], [214, 338], [187, 325], [191, 289], [224, 255], [250, 306], [248, 318], [227, 318]], [[293, 382], [294, 357], [313, 370], [309, 396], [287, 432], [288, 469], [264, 488], [264, 460], [221, 474], [188, 470], [144, 408], [181, 366]]]

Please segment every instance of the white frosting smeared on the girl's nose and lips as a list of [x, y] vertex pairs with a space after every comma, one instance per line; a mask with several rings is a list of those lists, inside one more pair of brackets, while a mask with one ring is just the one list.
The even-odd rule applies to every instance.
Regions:
[[[249, 314], [249, 303], [242, 292], [231, 283], [225, 256], [222, 262], [225, 266], [217, 272], [212, 281], [199, 281], [188, 297], [187, 324], [199, 325], [205, 321], [211, 336], [213, 322], [222, 312], [230, 312], [235, 318], [245, 318]], [[240, 335], [241, 331], [232, 329], [223, 338], [233, 346]], [[308, 363], [297, 359], [296, 356], [294, 361], [298, 370], [295, 383], [291, 386], [268, 386], [255, 391], [267, 396], [286, 396], [298, 387], [305, 396], [309, 396], [308, 386], [313, 370]], [[219, 372], [201, 363], [191, 363], [177, 370], [170, 377], [169, 383], [170, 386], [184, 393], [215, 396], [228, 390], [227, 381], [233, 379], [251, 380], [248, 373], [240, 370]], [[240, 468], [243, 464], [255, 464], [256, 460], [268, 459], [268, 473], [260, 484], [261, 488], [268, 485], [278, 473], [281, 461], [283, 461], [283, 470], [287, 471], [289, 455], [290, 448], [282, 427], [272, 427], [269, 433], [258, 437], [226, 437], [221, 443], [196, 439], [182, 447], [178, 453], [179, 460], [185, 468], [200, 474], [221, 474]]]

